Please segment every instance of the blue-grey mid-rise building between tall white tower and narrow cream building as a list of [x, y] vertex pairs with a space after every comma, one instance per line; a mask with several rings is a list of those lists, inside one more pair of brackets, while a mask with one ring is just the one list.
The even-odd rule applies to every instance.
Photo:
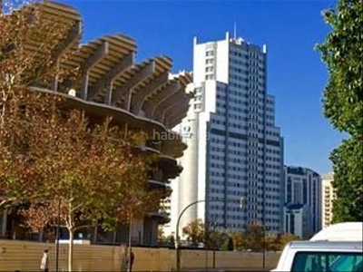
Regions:
[[[302, 230], [304, 238], [309, 238], [321, 229], [321, 178], [317, 172], [303, 167], [285, 166], [284, 171], [285, 211], [296, 205], [309, 211], [310, 223]], [[284, 220], [284, 231], [289, 232], [286, 212]]]

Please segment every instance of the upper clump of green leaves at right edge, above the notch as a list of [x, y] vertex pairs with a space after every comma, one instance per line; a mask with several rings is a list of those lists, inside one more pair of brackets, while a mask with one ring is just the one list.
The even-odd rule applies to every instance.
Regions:
[[328, 65], [329, 83], [324, 92], [324, 112], [332, 125], [350, 135], [363, 133], [363, 5], [340, 0], [338, 9], [325, 11], [333, 31], [318, 49]]

